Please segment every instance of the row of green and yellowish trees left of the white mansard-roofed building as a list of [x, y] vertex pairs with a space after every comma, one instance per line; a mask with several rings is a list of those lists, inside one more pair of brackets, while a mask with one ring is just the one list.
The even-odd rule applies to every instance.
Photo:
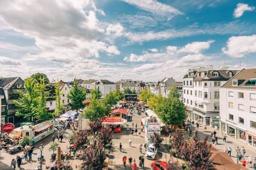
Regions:
[[180, 95], [176, 87], [169, 92], [168, 97], [161, 94], [152, 94], [149, 90], [142, 90], [140, 101], [147, 101], [147, 106], [152, 109], [160, 120], [166, 125], [180, 125], [187, 117], [185, 106], [180, 101]]

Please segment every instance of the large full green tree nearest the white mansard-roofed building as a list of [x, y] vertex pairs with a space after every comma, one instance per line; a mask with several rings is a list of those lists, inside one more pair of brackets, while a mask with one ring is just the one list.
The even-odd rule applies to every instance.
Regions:
[[173, 88], [169, 96], [163, 99], [157, 111], [158, 117], [167, 125], [180, 125], [187, 117], [184, 103], [177, 96], [173, 95], [176, 94], [175, 91], [177, 89]]

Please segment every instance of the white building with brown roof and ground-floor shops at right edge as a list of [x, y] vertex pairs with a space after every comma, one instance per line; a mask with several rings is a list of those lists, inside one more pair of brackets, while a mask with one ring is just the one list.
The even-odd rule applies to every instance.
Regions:
[[256, 147], [256, 69], [242, 69], [220, 88], [220, 130]]

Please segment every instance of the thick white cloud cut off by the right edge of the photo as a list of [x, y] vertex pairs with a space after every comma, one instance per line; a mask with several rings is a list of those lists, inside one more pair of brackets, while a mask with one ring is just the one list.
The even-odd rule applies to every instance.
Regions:
[[228, 38], [227, 46], [222, 52], [230, 57], [244, 57], [248, 53], [256, 52], [256, 34], [252, 36], [232, 36]]

